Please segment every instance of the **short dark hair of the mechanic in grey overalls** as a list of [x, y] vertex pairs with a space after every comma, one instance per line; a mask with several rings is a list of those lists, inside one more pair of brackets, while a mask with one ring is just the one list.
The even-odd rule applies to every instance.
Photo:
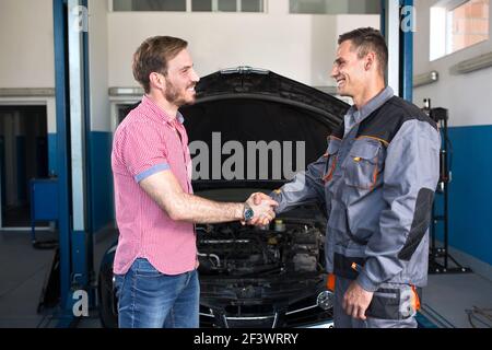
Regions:
[[339, 36], [338, 45], [350, 40], [354, 49], [358, 50], [358, 57], [363, 58], [370, 51], [374, 51], [379, 61], [380, 73], [385, 77], [388, 66], [388, 46], [379, 31], [373, 27], [358, 28]]

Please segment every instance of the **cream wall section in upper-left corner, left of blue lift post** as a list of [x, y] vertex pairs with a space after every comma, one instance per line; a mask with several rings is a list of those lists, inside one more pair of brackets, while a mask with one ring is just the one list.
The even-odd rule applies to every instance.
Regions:
[[52, 0], [0, 0], [0, 88], [55, 88]]

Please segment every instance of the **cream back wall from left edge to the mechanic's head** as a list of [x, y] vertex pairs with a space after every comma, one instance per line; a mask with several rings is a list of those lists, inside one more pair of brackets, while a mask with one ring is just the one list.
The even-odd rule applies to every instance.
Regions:
[[[91, 129], [96, 131], [110, 130], [107, 88], [138, 85], [131, 58], [149, 36], [186, 38], [200, 75], [248, 65], [332, 86], [338, 35], [379, 27], [378, 15], [289, 14], [289, 0], [269, 1], [268, 13], [108, 12], [107, 5], [89, 2]], [[55, 88], [51, 0], [0, 0], [0, 88]], [[44, 101], [51, 107], [49, 132], [56, 130], [52, 100]]]

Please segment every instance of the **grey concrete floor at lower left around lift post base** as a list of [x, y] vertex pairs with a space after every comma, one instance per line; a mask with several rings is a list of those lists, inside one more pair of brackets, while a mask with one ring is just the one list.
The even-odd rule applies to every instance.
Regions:
[[[52, 232], [39, 232], [39, 241], [56, 240]], [[116, 241], [114, 230], [96, 234], [94, 269], [98, 270], [106, 249]], [[0, 231], [0, 328], [56, 327], [56, 310], [37, 313], [45, 280], [51, 268], [55, 249], [35, 249], [30, 232]], [[83, 319], [82, 326], [101, 327], [96, 311]]]

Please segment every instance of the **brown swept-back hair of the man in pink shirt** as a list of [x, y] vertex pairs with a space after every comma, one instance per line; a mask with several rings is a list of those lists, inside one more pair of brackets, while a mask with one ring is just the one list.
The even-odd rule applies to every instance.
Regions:
[[145, 39], [133, 55], [133, 77], [150, 92], [149, 75], [152, 72], [167, 73], [167, 62], [188, 46], [184, 39], [172, 36], [153, 36]]

